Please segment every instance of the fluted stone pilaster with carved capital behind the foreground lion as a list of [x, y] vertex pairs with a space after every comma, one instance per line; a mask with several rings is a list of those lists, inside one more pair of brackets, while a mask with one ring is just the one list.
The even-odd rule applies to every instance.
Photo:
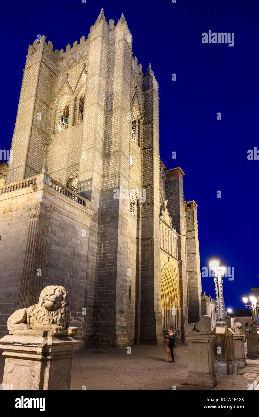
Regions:
[[22, 266], [18, 309], [38, 302], [38, 294], [42, 290], [45, 271], [50, 214], [53, 213], [52, 208], [42, 203], [29, 206], [29, 209], [31, 216]]

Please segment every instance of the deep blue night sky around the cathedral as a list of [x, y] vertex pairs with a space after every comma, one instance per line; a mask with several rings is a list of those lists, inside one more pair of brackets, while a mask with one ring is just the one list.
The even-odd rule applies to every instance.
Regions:
[[[87, 37], [101, 8], [115, 24], [124, 13], [133, 56], [144, 73], [151, 63], [159, 83], [160, 157], [167, 168], [181, 166], [184, 198], [198, 204], [201, 268], [214, 255], [234, 267], [234, 280], [224, 279], [225, 304], [243, 308], [241, 297], [259, 286], [259, 161], [247, 160], [249, 149], [259, 149], [258, 1], [45, 0], [3, 7], [1, 149], [10, 148], [22, 70], [37, 36], [65, 49]], [[234, 46], [203, 44], [209, 30], [234, 32]], [[213, 279], [203, 278], [202, 289], [214, 296]]]

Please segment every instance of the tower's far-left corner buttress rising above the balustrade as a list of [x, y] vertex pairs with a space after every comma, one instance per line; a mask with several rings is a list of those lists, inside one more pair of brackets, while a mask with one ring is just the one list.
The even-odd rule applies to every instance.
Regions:
[[57, 59], [44, 36], [34, 46], [29, 47], [22, 78], [7, 183], [37, 175], [45, 164]]

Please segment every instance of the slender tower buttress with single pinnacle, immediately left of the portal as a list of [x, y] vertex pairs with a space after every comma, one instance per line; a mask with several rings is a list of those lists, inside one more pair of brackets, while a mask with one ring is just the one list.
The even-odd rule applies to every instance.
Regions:
[[159, 226], [159, 97], [151, 66], [143, 78], [141, 329], [140, 343], [162, 343]]

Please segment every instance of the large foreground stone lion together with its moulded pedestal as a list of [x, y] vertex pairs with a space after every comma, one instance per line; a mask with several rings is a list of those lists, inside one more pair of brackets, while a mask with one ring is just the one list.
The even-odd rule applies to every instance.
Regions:
[[3, 384], [12, 389], [70, 389], [72, 357], [83, 343], [69, 327], [68, 294], [47, 286], [38, 304], [15, 311], [7, 320], [9, 335], [0, 339], [5, 359]]

